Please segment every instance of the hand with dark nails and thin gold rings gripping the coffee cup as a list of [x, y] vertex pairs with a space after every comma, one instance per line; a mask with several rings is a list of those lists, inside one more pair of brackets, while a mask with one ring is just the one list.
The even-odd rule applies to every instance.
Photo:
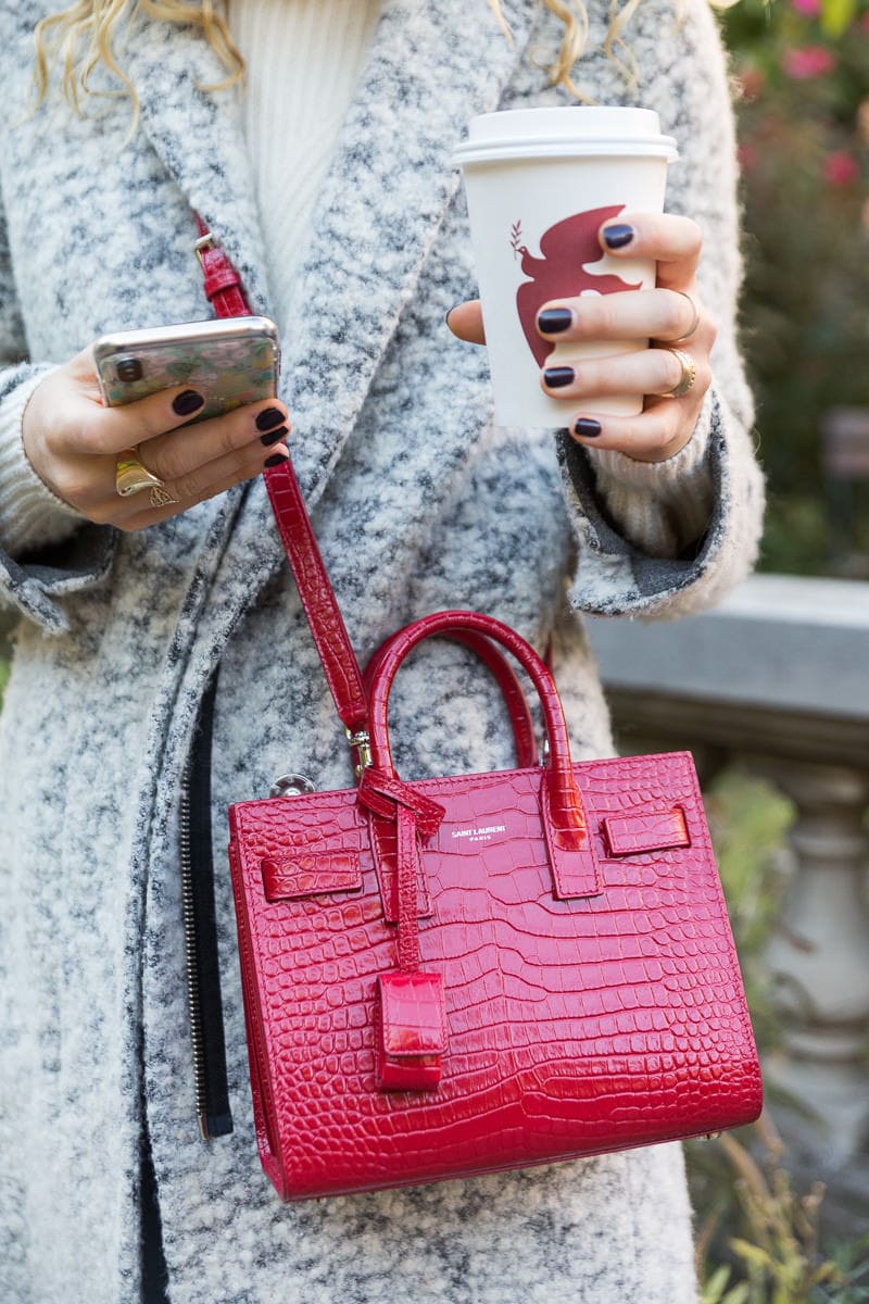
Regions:
[[[605, 223], [598, 240], [612, 258], [654, 258], [655, 288], [552, 299], [538, 313], [538, 333], [558, 344], [649, 339], [651, 348], [580, 359], [573, 365], [569, 359], [564, 361], [562, 349], [558, 366], [541, 372], [541, 386], [554, 399], [573, 400], [572, 407], [565, 404], [564, 425], [577, 443], [615, 449], [637, 462], [663, 462], [691, 439], [711, 381], [709, 355], [717, 329], [704, 309], [696, 280], [702, 232], [691, 218], [633, 213]], [[548, 316], [555, 309], [559, 316]], [[452, 308], [447, 325], [459, 339], [486, 342], [477, 299]], [[696, 368], [694, 382], [681, 398], [663, 396], [684, 374], [674, 347], [688, 353]], [[584, 395], [595, 394], [642, 395], [642, 412], [610, 416], [585, 408]]]

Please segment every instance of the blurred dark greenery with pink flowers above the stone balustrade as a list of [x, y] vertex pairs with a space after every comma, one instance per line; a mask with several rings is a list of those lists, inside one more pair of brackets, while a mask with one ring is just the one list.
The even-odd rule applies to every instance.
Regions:
[[869, 411], [869, 8], [739, 0], [722, 26], [739, 96], [743, 347], [770, 486], [761, 566], [869, 575], [869, 481], [843, 515], [821, 443], [833, 409]]

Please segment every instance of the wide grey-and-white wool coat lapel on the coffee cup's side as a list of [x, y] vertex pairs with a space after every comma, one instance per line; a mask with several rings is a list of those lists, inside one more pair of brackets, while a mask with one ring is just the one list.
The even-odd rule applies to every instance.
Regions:
[[[309, 507], [350, 434], [460, 184], [451, 154], [474, 113], [498, 107], [528, 43], [533, 0], [504, 0], [507, 40], [486, 0], [384, 0], [379, 26], [310, 223], [283, 342], [293, 464]], [[224, 572], [264, 583], [284, 563], [254, 481]], [[245, 605], [257, 597], [248, 589]]]

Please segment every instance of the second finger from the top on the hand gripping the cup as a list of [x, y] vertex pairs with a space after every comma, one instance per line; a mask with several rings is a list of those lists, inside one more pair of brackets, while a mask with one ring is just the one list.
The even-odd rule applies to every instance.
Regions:
[[[715, 327], [701, 308], [696, 291], [688, 293], [700, 309], [700, 321], [691, 338], [711, 347]], [[589, 339], [677, 340], [694, 323], [692, 303], [675, 289], [631, 289], [552, 299], [537, 314], [537, 330], [558, 344]]]

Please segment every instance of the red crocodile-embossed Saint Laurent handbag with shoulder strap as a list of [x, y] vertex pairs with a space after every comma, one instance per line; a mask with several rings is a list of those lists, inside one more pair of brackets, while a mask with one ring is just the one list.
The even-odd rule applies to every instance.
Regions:
[[[360, 762], [356, 788], [229, 810], [257, 1140], [279, 1193], [417, 1185], [757, 1118], [691, 755], [575, 764], [546, 664], [474, 612], [400, 630], [363, 681], [289, 463], [267, 488]], [[396, 773], [390, 690], [434, 635], [495, 674], [519, 768]], [[539, 696], [542, 765], [500, 649]]]

